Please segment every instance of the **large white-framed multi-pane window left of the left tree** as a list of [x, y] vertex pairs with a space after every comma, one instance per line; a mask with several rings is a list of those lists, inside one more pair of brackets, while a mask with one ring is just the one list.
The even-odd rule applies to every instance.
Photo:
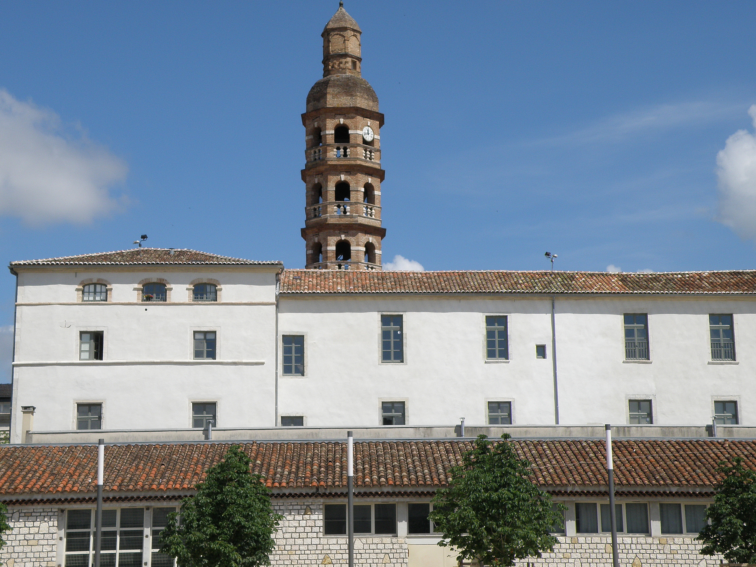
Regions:
[[[158, 524], [161, 510], [175, 511], [175, 508], [153, 509], [153, 548], [155, 541], [160, 541], [160, 531], [165, 527]], [[155, 515], [157, 513], [157, 515]], [[66, 530], [64, 553], [66, 567], [87, 567], [94, 559], [95, 539], [95, 510], [68, 510], [66, 513]], [[144, 549], [144, 542], [148, 540], [150, 528], [144, 525], [144, 508], [122, 508], [117, 510], [103, 510], [102, 513], [102, 541], [101, 565], [112, 567], [137, 567], [142, 565], [144, 554], [150, 550]], [[157, 529], [155, 529], [157, 528]], [[147, 537], [146, 537], [147, 536]], [[167, 556], [152, 553], [153, 567], [173, 567], [174, 562]], [[157, 560], [157, 561], [156, 561]]]

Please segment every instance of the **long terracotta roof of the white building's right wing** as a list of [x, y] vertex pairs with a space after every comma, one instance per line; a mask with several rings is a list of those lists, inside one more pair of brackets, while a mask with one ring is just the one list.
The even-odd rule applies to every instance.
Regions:
[[756, 293], [756, 270], [651, 274], [595, 271], [284, 270], [280, 293]]

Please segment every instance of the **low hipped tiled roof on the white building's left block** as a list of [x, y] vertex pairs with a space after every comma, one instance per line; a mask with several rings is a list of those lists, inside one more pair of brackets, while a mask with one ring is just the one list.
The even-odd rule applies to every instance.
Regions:
[[144, 264], [219, 264], [219, 265], [282, 265], [281, 262], [259, 262], [241, 258], [229, 258], [189, 249], [132, 248], [116, 252], [62, 256], [42, 260], [11, 262], [14, 266], [33, 265], [144, 265]]

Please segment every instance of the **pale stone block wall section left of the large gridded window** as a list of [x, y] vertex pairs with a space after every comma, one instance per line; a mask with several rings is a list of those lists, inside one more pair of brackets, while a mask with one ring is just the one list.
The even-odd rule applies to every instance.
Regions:
[[5, 567], [57, 565], [57, 508], [8, 508], [11, 532], [0, 550]]

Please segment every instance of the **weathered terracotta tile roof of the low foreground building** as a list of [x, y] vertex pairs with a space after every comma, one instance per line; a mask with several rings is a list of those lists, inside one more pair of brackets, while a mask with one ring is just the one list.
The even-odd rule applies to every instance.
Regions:
[[[532, 464], [532, 478], [550, 490], [606, 489], [603, 440], [516, 440]], [[191, 491], [229, 443], [108, 445], [105, 491], [160, 493]], [[342, 442], [253, 442], [240, 444], [270, 488], [296, 491], [346, 487]], [[448, 469], [461, 462], [471, 440], [355, 442], [355, 487], [433, 490], [448, 482]], [[756, 441], [617, 440], [615, 479], [620, 491], [690, 488], [711, 491], [717, 463], [743, 457], [756, 469]], [[71, 498], [95, 491], [96, 445], [5, 445], [0, 447], [0, 495]]]

